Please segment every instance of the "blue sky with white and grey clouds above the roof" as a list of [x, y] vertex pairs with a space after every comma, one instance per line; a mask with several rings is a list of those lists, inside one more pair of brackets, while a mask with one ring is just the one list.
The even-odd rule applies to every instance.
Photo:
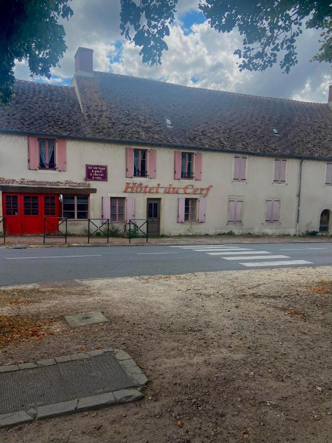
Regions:
[[[309, 63], [319, 47], [319, 32], [303, 31], [298, 39], [299, 63], [290, 74], [283, 74], [278, 65], [264, 73], [240, 72], [233, 52], [241, 47], [241, 37], [237, 32], [212, 30], [197, 5], [198, 0], [179, 0], [176, 20], [166, 39], [169, 50], [163, 53], [160, 66], [150, 67], [142, 63], [139, 48], [121, 38], [120, 0], [72, 0], [74, 15], [63, 22], [68, 49], [60, 67], [52, 70], [50, 82], [70, 84], [75, 52], [84, 46], [94, 50], [94, 70], [98, 71], [243, 94], [327, 101], [331, 66]], [[24, 62], [16, 65], [15, 75], [30, 79]]]

